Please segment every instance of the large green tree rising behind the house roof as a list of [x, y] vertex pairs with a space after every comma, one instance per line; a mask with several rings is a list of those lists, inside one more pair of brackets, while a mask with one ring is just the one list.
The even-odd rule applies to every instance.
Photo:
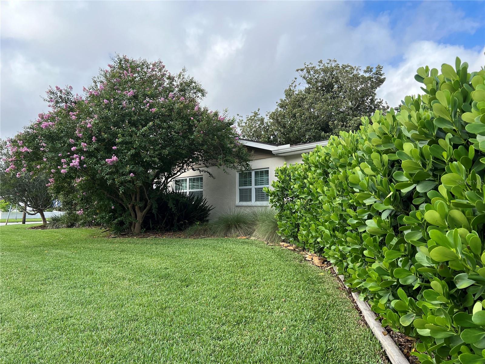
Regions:
[[[298, 144], [327, 139], [339, 131], [358, 129], [360, 117], [387, 104], [377, 99], [376, 90], [386, 78], [382, 66], [339, 65], [328, 60], [298, 68], [276, 109], [267, 117], [258, 111], [240, 118], [247, 139], [275, 144]], [[303, 87], [302, 87], [303, 84]]]

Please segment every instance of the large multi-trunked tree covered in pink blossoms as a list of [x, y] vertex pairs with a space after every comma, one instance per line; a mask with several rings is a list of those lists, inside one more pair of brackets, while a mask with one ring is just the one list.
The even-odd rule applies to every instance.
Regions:
[[199, 105], [206, 92], [185, 69], [117, 55], [83, 91], [49, 88], [50, 111], [10, 141], [9, 167], [48, 171], [48, 186], [79, 215], [114, 214], [139, 233], [180, 173], [248, 168], [233, 120]]

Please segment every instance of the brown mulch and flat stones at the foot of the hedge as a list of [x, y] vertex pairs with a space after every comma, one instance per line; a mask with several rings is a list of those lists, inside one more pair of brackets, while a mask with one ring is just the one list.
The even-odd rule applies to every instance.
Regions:
[[[324, 257], [318, 256], [317, 254], [314, 254], [314, 253], [310, 253], [307, 250], [304, 250], [302, 248], [298, 248], [296, 245], [292, 245], [292, 244], [288, 244], [288, 243], [284, 243], [284, 242], [281, 242], [279, 245], [282, 248], [293, 250], [293, 251], [298, 252], [299, 254], [302, 254], [303, 256], [305, 256], [305, 260], [308, 261], [310, 264], [316, 265], [316, 266], [320, 267], [321, 269], [327, 270], [328, 272], [330, 272], [330, 274], [332, 276], [337, 278], [337, 273], [335, 273], [335, 271], [332, 269], [333, 266]], [[358, 313], [361, 316], [362, 323], [367, 326], [367, 323], [366, 323], [364, 317], [362, 316], [362, 313], [361, 313], [360, 309], [358, 308], [356, 301], [351, 296], [352, 291], [350, 290], [350, 288], [347, 289], [344, 286], [344, 284], [342, 283], [342, 281], [340, 281], [339, 279], [338, 279], [338, 281], [339, 281], [339, 284], [340, 284], [339, 288], [341, 290], [347, 292], [349, 297], [352, 299], [352, 302], [354, 303], [354, 307], [356, 308], [356, 310], [358, 311]], [[388, 332], [388, 334], [390, 335], [392, 340], [396, 343], [396, 345], [401, 349], [401, 351], [403, 352], [403, 354], [405, 355], [405, 357], [407, 358], [409, 363], [418, 364], [419, 363], [418, 358], [411, 355], [411, 351], [413, 350], [414, 344], [416, 342], [415, 339], [408, 337], [408, 336], [406, 336], [406, 335], [404, 335], [400, 332], [393, 331], [389, 327], [386, 327], [385, 330]]]

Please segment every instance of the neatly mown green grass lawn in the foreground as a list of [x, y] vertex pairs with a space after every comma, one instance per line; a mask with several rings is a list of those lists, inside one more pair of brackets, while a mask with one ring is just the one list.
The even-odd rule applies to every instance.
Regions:
[[0, 227], [1, 363], [381, 363], [328, 272], [237, 239]]

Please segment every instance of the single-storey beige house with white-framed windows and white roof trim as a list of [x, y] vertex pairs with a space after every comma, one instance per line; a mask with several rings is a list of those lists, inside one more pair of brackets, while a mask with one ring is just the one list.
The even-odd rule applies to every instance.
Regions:
[[207, 173], [189, 170], [172, 182], [172, 189], [185, 191], [191, 195], [203, 196], [214, 207], [210, 218], [216, 218], [232, 209], [247, 209], [269, 206], [264, 187], [271, 186], [275, 180], [276, 167], [302, 161], [302, 153], [313, 150], [317, 145], [326, 145], [327, 140], [275, 145], [253, 140], [240, 139], [251, 154], [251, 169], [248, 171], [228, 171], [217, 167], [208, 167]]

